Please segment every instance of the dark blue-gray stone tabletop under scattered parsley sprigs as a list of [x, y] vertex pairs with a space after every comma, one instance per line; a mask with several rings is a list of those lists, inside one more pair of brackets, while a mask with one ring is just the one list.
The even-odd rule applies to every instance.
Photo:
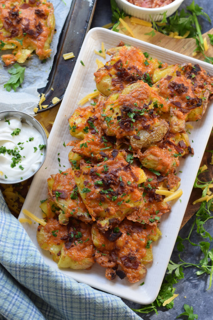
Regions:
[[[192, 0], [185, 0], [181, 5], [180, 9], [186, 8], [187, 5], [191, 4]], [[204, 11], [207, 12], [210, 18], [213, 20], [213, 1], [212, 0], [195, 0], [195, 3], [199, 4], [204, 8]], [[110, 10], [110, 0], [98, 0], [97, 6], [95, 9], [94, 19], [92, 21], [91, 28], [101, 27], [104, 24], [110, 23], [111, 19], [111, 10]], [[213, 21], [209, 23], [202, 16], [199, 17], [199, 23], [202, 26], [202, 33], [213, 28]], [[194, 218], [192, 217], [187, 224], [179, 232], [181, 237], [186, 237], [188, 232], [193, 224]], [[208, 229], [211, 234], [213, 234], [213, 220], [209, 220]], [[202, 237], [198, 236], [196, 233], [196, 228], [191, 235], [191, 241], [199, 243], [202, 241]], [[179, 252], [175, 247], [171, 256], [171, 260], [178, 263]], [[202, 259], [200, 254], [200, 249], [197, 247], [191, 246], [186, 242], [185, 251], [181, 252], [181, 259], [187, 262], [194, 263]], [[175, 293], [179, 293], [179, 296], [174, 300], [174, 307], [170, 310], [165, 308], [160, 308], [158, 310], [159, 315], [157, 316], [154, 312], [151, 314], [139, 314], [144, 320], [175, 320], [176, 317], [184, 312], [183, 305], [184, 303], [193, 306], [194, 313], [198, 314], [199, 320], [213, 320], [213, 284], [212, 288], [207, 291], [209, 286], [209, 276], [202, 275], [196, 276], [195, 268], [186, 268], [184, 269], [184, 279], [181, 279], [178, 284], [176, 284]], [[126, 288], [128, 290], [128, 288]], [[184, 298], [186, 296], [186, 298]], [[124, 302], [134, 309], [142, 308], [142, 305], [134, 303], [128, 300], [123, 299]], [[186, 316], [181, 319], [187, 319]]]

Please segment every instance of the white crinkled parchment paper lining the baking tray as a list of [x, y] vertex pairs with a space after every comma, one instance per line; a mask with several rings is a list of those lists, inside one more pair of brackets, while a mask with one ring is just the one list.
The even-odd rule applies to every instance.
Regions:
[[[21, 63], [21, 66], [26, 67], [25, 77], [22, 88], [17, 88], [16, 92], [12, 89], [10, 92], [7, 92], [4, 89], [4, 84], [10, 79], [10, 74], [7, 70], [12, 66], [5, 68], [3, 61], [0, 60], [0, 111], [19, 110], [34, 115], [33, 109], [37, 107], [40, 99], [37, 89], [45, 87], [47, 84], [49, 72], [57, 51], [58, 38], [72, 4], [72, 0], [65, 0], [66, 4], [62, 0], [50, 0], [50, 2], [54, 7], [55, 28], [57, 29], [50, 44], [50, 48], [52, 49], [50, 58], [42, 63], [34, 53], [29, 60]], [[7, 52], [11, 53], [11, 50], [2, 51], [1, 55]]]

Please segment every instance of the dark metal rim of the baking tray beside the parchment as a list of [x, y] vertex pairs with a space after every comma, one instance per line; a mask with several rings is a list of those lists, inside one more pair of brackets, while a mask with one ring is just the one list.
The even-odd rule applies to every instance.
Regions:
[[[48, 104], [49, 106], [46, 109], [39, 109], [37, 113], [49, 110], [62, 101], [82, 42], [90, 28], [96, 2], [97, 0], [92, 0], [90, 3], [86, 0], [72, 0], [70, 12], [59, 37], [57, 53], [54, 57], [48, 83], [46, 87], [38, 89], [39, 93], [45, 94], [45, 105]], [[75, 58], [64, 60], [63, 54], [67, 52], [73, 52]], [[54, 97], [57, 97], [60, 101], [53, 104], [52, 99]]]

